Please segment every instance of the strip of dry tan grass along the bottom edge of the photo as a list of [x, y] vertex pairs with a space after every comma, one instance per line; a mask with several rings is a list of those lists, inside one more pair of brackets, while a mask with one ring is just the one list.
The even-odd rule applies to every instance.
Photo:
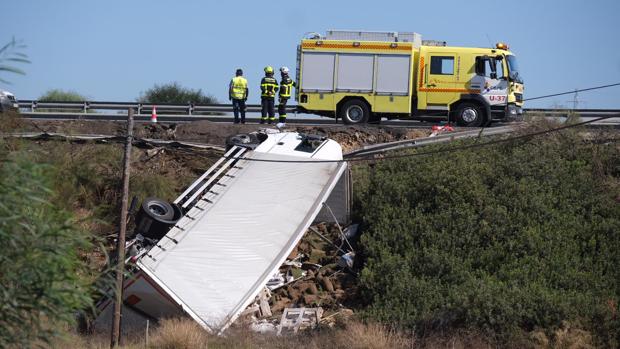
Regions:
[[[59, 349], [106, 349], [107, 335], [65, 335], [50, 348]], [[257, 334], [245, 328], [231, 328], [225, 336], [208, 334], [191, 319], [162, 320], [151, 331], [148, 346], [144, 332], [123, 338], [122, 349], [493, 349], [532, 348], [564, 349], [593, 348], [589, 333], [576, 328], [563, 327], [547, 337], [535, 331], [515, 338], [511, 343], [500, 345], [476, 332], [453, 332], [435, 334], [426, 338], [414, 337], [413, 333], [392, 330], [379, 324], [365, 324], [351, 320], [342, 327], [320, 328], [301, 332], [295, 336]]]

